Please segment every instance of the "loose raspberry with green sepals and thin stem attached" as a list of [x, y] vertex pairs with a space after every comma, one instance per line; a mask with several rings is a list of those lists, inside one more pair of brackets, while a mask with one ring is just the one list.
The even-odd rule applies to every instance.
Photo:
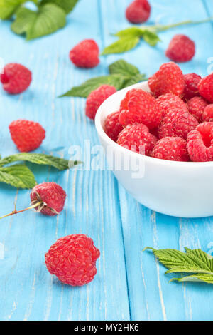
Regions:
[[31, 191], [31, 205], [37, 212], [44, 215], [58, 215], [65, 205], [66, 192], [55, 182], [43, 182], [33, 187]]

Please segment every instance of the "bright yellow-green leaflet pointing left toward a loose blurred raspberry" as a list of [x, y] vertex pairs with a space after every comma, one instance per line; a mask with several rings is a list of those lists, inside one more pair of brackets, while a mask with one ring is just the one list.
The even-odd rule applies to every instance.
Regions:
[[104, 48], [102, 55], [109, 55], [111, 53], [123, 53], [134, 48], [140, 41], [138, 36], [126, 36], [112, 43], [110, 46]]

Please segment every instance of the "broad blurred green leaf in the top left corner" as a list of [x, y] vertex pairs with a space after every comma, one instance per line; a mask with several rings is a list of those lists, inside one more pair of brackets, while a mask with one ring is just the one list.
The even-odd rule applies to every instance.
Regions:
[[26, 33], [27, 40], [54, 33], [66, 24], [66, 14], [55, 4], [39, 6], [38, 11], [21, 7], [16, 20], [11, 24], [14, 33]]

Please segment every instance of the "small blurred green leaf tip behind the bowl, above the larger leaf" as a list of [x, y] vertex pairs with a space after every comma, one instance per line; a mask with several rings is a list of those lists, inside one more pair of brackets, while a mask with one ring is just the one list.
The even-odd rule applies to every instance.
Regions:
[[124, 61], [123, 59], [119, 59], [119, 61], [115, 61], [109, 66], [110, 74], [121, 74], [122, 76], [136, 76], [140, 73], [136, 66]]

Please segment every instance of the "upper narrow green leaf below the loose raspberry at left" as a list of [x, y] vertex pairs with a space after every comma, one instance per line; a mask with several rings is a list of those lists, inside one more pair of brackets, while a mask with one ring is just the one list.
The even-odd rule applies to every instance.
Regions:
[[49, 165], [58, 170], [67, 170], [68, 168], [72, 168], [73, 166], [81, 163], [78, 161], [69, 161], [65, 160], [64, 158], [58, 158], [42, 153], [18, 153], [17, 155], [11, 155], [0, 160], [0, 166], [18, 161], [27, 161], [40, 165]]

